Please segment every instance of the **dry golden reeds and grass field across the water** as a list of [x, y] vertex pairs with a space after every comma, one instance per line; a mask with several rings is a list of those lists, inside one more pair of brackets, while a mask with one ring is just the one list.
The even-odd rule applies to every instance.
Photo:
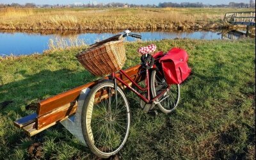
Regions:
[[[252, 8], [65, 8], [0, 10], [0, 29], [113, 30], [228, 28], [226, 12]], [[21, 20], [22, 19], [22, 20]], [[198, 26], [199, 25], [199, 26]]]

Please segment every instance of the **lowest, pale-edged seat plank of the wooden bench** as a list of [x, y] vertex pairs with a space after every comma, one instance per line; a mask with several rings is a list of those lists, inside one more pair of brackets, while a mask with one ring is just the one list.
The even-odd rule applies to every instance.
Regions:
[[[65, 118], [61, 119], [58, 122], [66, 120], [67, 118], [68, 118], [68, 116], [65, 116]], [[36, 129], [36, 122], [33, 122], [32, 124], [24, 126], [22, 129], [25, 131], [26, 134], [28, 134], [28, 136], [34, 136], [35, 134], [38, 134], [39, 132], [42, 132], [45, 129], [48, 129], [49, 127], [52, 127], [52, 125], [55, 125], [58, 122], [53, 122], [52, 124], [46, 125], [45, 127], [42, 127], [41, 129]]]

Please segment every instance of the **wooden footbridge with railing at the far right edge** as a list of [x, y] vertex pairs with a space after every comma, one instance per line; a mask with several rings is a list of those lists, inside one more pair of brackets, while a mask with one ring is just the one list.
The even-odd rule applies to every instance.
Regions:
[[233, 25], [255, 26], [255, 12], [228, 12], [223, 20]]

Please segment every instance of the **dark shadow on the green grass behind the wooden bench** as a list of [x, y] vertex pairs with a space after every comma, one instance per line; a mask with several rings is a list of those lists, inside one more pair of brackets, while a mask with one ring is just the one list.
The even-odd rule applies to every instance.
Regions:
[[0, 113], [15, 111], [24, 116], [21, 107], [95, 79], [87, 71], [76, 72], [65, 68], [56, 71], [42, 70], [32, 75], [27, 74], [26, 70], [20, 70], [15, 74], [23, 79], [0, 86]]

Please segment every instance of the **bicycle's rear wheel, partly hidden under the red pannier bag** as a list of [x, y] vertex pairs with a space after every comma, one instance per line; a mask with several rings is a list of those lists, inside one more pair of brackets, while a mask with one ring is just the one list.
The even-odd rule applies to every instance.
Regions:
[[[151, 92], [152, 96], [156, 97], [163, 90], [167, 90], [164, 95], [156, 99], [156, 106], [163, 111], [163, 113], [172, 112], [178, 105], [180, 99], [180, 85], [166, 83], [164, 75], [159, 70], [152, 70], [151, 74]], [[169, 89], [168, 89], [169, 88]]]

